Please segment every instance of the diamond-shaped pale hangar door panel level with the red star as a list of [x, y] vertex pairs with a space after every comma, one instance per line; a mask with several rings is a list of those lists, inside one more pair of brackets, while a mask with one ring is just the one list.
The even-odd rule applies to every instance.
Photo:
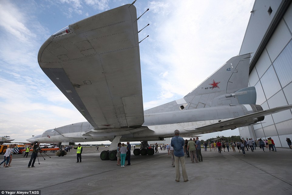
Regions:
[[269, 99], [271, 96], [273, 96], [281, 89], [279, 80], [276, 76], [273, 66], [270, 66], [267, 72], [260, 79], [260, 82], [263, 86], [263, 90], [265, 92], [267, 99]]

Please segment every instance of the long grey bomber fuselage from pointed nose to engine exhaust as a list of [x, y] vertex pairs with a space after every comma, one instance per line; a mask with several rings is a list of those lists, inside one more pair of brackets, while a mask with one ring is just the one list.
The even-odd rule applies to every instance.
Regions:
[[[115, 136], [122, 136], [121, 141], [157, 141], [165, 137], [172, 137], [176, 129], [180, 131], [181, 136], [215, 132], [218, 129], [210, 128], [208, 131], [200, 131], [199, 129], [186, 130], [186, 127], [202, 127], [233, 119], [255, 113], [259, 111], [258, 108], [258, 105], [256, 107], [245, 104], [145, 114], [144, 124], [138, 128], [94, 129], [89, 122], [81, 122], [46, 130], [43, 134], [34, 136], [28, 141], [39, 141], [40, 143], [105, 141], [113, 140]], [[238, 126], [256, 122], [257, 120], [243, 121]], [[219, 131], [230, 128], [232, 129], [230, 126], [222, 127]]]

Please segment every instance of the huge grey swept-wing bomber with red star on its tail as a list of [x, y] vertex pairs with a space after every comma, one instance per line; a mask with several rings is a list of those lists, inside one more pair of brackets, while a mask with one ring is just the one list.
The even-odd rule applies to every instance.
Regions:
[[137, 12], [133, 4], [71, 24], [41, 46], [44, 73], [86, 118], [27, 141], [112, 141], [101, 159], [116, 158], [120, 141], [142, 141], [134, 155], [152, 155], [147, 141], [178, 129], [183, 137], [255, 124], [292, 105], [263, 110], [248, 87], [250, 54], [232, 57], [185, 97], [143, 111]]

